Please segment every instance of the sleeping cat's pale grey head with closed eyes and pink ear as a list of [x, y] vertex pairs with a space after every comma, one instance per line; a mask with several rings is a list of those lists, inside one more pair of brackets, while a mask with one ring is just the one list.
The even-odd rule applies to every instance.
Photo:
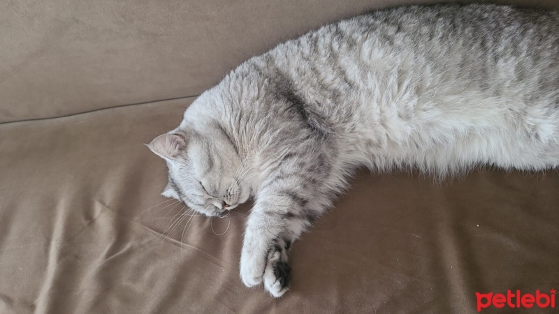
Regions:
[[177, 128], [147, 144], [167, 162], [168, 184], [161, 195], [173, 197], [206, 216], [218, 216], [246, 202], [251, 194], [231, 138], [219, 127], [198, 133]]

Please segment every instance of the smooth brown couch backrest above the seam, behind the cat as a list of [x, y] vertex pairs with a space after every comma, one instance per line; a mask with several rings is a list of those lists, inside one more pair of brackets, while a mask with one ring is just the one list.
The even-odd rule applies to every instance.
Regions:
[[0, 123], [196, 96], [286, 39], [410, 2], [434, 0], [7, 1]]

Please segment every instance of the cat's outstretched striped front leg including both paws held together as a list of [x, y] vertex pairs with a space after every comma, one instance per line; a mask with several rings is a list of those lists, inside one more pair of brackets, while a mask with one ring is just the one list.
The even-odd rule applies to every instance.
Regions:
[[324, 146], [306, 147], [311, 149], [293, 149], [279, 161], [263, 182], [247, 220], [242, 281], [249, 287], [263, 282], [275, 297], [289, 287], [291, 244], [331, 206], [337, 192], [333, 187], [342, 186], [343, 176], [333, 166], [335, 154]]

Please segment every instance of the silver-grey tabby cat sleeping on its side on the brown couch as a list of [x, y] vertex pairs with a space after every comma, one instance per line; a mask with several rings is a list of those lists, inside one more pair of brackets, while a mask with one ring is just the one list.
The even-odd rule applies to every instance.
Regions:
[[293, 241], [357, 167], [437, 177], [559, 166], [559, 12], [410, 6], [253, 57], [148, 147], [174, 197], [218, 216], [254, 197], [240, 277], [289, 288]]

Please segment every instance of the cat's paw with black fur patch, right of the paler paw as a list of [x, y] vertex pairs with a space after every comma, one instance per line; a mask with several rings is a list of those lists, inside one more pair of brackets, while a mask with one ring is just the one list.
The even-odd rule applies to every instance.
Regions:
[[289, 290], [291, 280], [291, 267], [287, 262], [282, 262], [282, 252], [274, 251], [268, 257], [268, 265], [264, 271], [264, 287], [273, 295], [281, 297]]

